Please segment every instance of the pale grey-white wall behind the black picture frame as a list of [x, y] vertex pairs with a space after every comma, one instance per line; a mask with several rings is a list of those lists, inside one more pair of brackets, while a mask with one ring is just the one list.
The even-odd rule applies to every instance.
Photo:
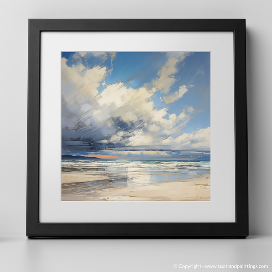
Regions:
[[245, 18], [250, 233], [272, 234], [271, 10], [269, 0], [3, 2], [0, 10], [0, 234], [25, 232], [28, 18]]

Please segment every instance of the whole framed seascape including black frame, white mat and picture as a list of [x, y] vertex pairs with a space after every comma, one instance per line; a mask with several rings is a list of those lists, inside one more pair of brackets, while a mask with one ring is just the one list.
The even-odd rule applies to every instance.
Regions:
[[30, 19], [27, 236], [247, 237], [244, 19]]

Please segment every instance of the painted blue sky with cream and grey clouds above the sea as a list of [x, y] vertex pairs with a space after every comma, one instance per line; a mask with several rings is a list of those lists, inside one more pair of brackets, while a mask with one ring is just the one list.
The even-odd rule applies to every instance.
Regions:
[[63, 154], [209, 153], [209, 52], [62, 52], [61, 63]]

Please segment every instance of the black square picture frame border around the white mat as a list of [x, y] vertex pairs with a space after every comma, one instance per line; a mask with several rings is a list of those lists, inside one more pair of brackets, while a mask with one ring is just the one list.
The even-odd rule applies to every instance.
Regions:
[[[235, 199], [234, 223], [40, 223], [40, 53], [42, 31], [231, 31], [234, 35]], [[29, 19], [27, 225], [37, 237], [225, 237], [248, 236], [245, 19]]]

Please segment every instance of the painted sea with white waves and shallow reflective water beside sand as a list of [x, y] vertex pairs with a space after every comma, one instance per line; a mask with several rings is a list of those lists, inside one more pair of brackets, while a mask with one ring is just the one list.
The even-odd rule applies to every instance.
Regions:
[[62, 160], [62, 172], [104, 175], [126, 186], [178, 181], [210, 173], [210, 167], [209, 160]]

